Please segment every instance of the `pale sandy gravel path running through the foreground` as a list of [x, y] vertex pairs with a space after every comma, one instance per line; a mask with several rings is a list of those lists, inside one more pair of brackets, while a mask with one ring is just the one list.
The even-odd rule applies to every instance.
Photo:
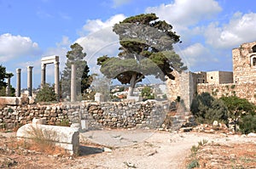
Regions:
[[201, 132], [109, 130], [84, 132], [81, 136], [82, 139], [87, 138], [86, 141], [102, 144], [102, 148], [108, 146], [112, 150], [81, 156], [72, 168], [185, 168], [183, 161], [190, 155], [190, 148], [203, 139], [208, 143], [256, 144], [256, 138]]

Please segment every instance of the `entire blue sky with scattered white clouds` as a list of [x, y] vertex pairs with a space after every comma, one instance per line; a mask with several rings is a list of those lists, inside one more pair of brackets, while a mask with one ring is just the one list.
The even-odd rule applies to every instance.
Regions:
[[[33, 87], [38, 87], [40, 59], [59, 55], [63, 70], [70, 45], [79, 42], [94, 73], [98, 56], [117, 54], [113, 24], [155, 13], [180, 35], [175, 50], [189, 70], [232, 70], [232, 48], [256, 41], [255, 7], [254, 0], [0, 0], [0, 64], [14, 74], [21, 68], [22, 87], [26, 66], [34, 66]], [[50, 83], [53, 67], [47, 66]], [[14, 76], [14, 87], [15, 81]]]

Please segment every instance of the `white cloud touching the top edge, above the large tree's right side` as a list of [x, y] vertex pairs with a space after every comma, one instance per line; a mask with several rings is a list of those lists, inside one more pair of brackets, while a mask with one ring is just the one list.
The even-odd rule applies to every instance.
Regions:
[[160, 20], [166, 20], [174, 28], [183, 29], [195, 25], [201, 20], [207, 20], [218, 14], [222, 8], [214, 0], [175, 0], [170, 4], [149, 7], [147, 13], [155, 13]]

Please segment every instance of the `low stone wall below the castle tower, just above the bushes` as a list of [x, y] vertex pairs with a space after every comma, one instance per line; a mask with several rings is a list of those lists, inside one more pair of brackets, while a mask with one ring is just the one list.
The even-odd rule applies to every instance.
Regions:
[[198, 84], [197, 92], [210, 93], [216, 98], [235, 95], [256, 104], [256, 83]]

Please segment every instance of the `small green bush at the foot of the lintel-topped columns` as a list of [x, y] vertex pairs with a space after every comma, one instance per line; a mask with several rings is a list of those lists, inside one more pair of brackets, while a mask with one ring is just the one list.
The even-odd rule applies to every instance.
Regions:
[[49, 86], [49, 84], [45, 84], [43, 88], [39, 90], [36, 96], [36, 102], [51, 102], [57, 101], [54, 86]]

